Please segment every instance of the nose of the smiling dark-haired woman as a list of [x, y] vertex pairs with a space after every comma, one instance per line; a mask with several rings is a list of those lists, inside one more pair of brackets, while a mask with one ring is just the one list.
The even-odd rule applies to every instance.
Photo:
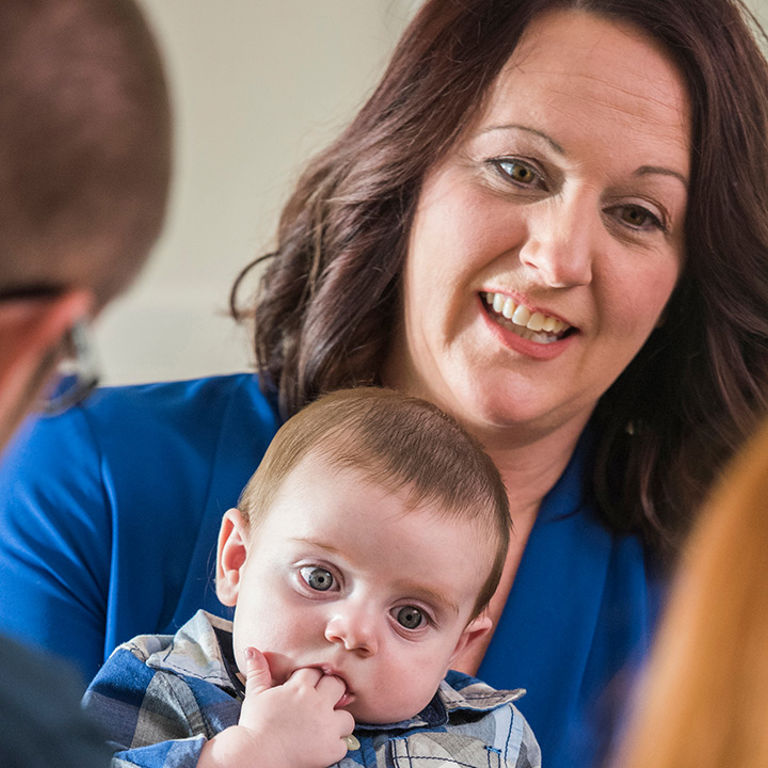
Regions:
[[586, 196], [550, 198], [528, 210], [527, 238], [520, 260], [551, 288], [592, 281], [595, 244], [602, 231], [599, 207]]

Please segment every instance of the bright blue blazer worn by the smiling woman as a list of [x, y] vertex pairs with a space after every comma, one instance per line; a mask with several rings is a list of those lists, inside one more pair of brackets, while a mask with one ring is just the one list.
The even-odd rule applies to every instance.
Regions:
[[[221, 515], [277, 426], [248, 374], [105, 389], [28, 425], [0, 471], [0, 633], [90, 679], [134, 635], [173, 634], [199, 608], [228, 616], [213, 588]], [[599, 695], [645, 652], [658, 607], [639, 541], [583, 501], [586, 453], [542, 503], [479, 671], [528, 690], [548, 768], [590, 764]]]

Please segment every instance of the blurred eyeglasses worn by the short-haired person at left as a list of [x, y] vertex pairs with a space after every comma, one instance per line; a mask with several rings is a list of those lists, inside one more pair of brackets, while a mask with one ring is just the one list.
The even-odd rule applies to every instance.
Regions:
[[[0, 301], [45, 299], [61, 294], [53, 286], [30, 286], [0, 291]], [[55, 361], [55, 372], [43, 389], [37, 410], [46, 415], [63, 413], [85, 400], [99, 383], [99, 366], [94, 353], [90, 322], [78, 320], [64, 335], [50, 360]], [[47, 368], [47, 366], [45, 366]]]

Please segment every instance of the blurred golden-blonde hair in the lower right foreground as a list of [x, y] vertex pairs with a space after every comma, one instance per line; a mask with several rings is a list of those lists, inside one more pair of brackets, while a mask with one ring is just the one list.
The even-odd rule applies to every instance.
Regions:
[[768, 766], [768, 424], [688, 541], [620, 768]]

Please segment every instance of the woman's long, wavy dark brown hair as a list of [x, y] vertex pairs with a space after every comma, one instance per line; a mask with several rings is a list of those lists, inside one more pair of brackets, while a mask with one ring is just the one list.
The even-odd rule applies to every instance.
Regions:
[[528, 22], [552, 8], [644, 30], [691, 97], [684, 271], [665, 322], [593, 418], [601, 518], [667, 549], [768, 395], [768, 67], [738, 0], [430, 0], [377, 90], [300, 179], [254, 306], [236, 301], [250, 265], [233, 312], [254, 321], [257, 366], [286, 416], [377, 382], [421, 182]]

